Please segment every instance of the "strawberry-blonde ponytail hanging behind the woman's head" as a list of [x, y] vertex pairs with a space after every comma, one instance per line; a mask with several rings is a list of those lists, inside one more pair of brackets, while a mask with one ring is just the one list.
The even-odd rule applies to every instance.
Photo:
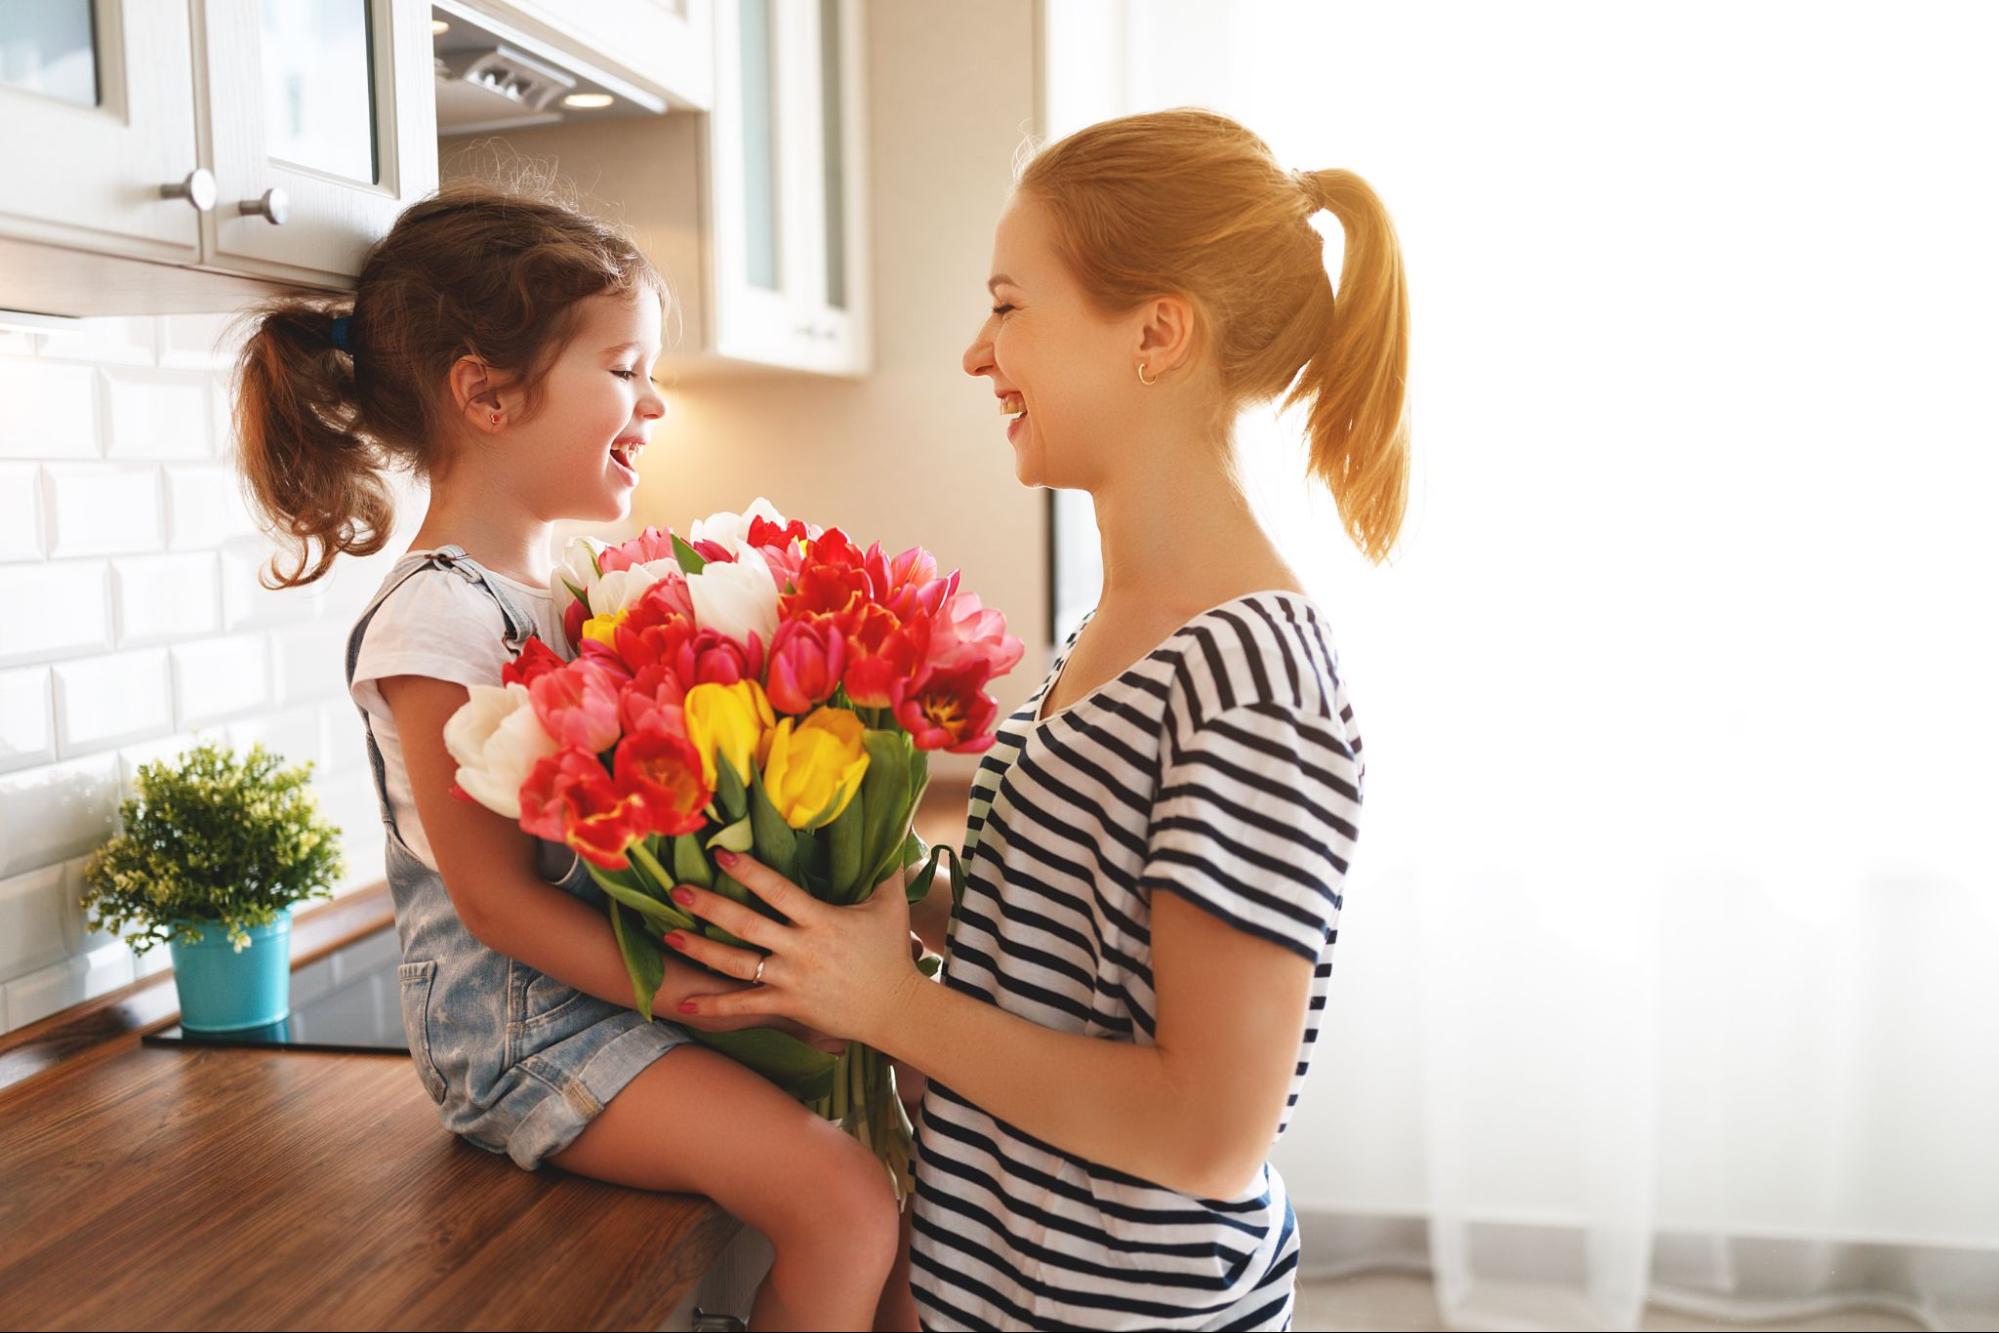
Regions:
[[1345, 254], [1325, 338], [1285, 406], [1311, 402], [1311, 472], [1339, 506], [1347, 536], [1387, 558], [1409, 502], [1409, 292], [1381, 200], [1353, 172], [1301, 172], [1307, 198], [1339, 220]]

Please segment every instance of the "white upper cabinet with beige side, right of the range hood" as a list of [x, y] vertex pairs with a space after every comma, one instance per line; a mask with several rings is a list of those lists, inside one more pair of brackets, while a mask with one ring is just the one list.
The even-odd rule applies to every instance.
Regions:
[[666, 274], [680, 378], [872, 368], [862, 18], [860, 0], [716, 0], [708, 116], [502, 136]]

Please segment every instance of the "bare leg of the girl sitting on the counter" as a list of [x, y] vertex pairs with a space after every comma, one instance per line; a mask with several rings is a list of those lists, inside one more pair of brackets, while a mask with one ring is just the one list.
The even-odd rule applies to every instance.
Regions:
[[896, 1261], [896, 1197], [874, 1153], [702, 1047], [656, 1059], [550, 1163], [708, 1195], [762, 1231], [778, 1257], [752, 1329], [864, 1329]]

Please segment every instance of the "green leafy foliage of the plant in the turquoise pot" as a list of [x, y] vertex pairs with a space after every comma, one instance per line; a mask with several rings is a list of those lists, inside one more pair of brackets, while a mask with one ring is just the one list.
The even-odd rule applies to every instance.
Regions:
[[124, 831], [84, 865], [90, 925], [136, 953], [222, 925], [250, 947], [250, 929], [292, 903], [332, 897], [340, 831], [320, 817], [312, 765], [284, 767], [262, 745], [236, 757], [204, 743], [174, 761], [142, 763], [138, 795], [118, 807]]

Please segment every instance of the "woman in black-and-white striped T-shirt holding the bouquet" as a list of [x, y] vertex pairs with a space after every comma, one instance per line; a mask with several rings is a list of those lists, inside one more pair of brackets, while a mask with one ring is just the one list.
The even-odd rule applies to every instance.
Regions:
[[[1345, 230], [1337, 298], [1321, 208]], [[1309, 402], [1313, 476], [1363, 552], [1389, 550], [1393, 232], [1349, 172], [1285, 172], [1221, 116], [1131, 116], [1025, 166], [990, 286], [966, 372], [1013, 416], [1023, 484], [1089, 492], [1103, 596], [980, 767], [948, 985], [902, 947], [912, 915], [936, 935], [942, 891], [828, 907], [738, 859], [792, 925], [678, 887], [768, 951], [676, 933], [726, 975], [764, 963], [762, 987], [682, 1011], [788, 1015], [928, 1075], [906, 1319], [1289, 1327], [1297, 1227], [1267, 1155], [1325, 1003], [1361, 741], [1229, 426], [1287, 388]]]

